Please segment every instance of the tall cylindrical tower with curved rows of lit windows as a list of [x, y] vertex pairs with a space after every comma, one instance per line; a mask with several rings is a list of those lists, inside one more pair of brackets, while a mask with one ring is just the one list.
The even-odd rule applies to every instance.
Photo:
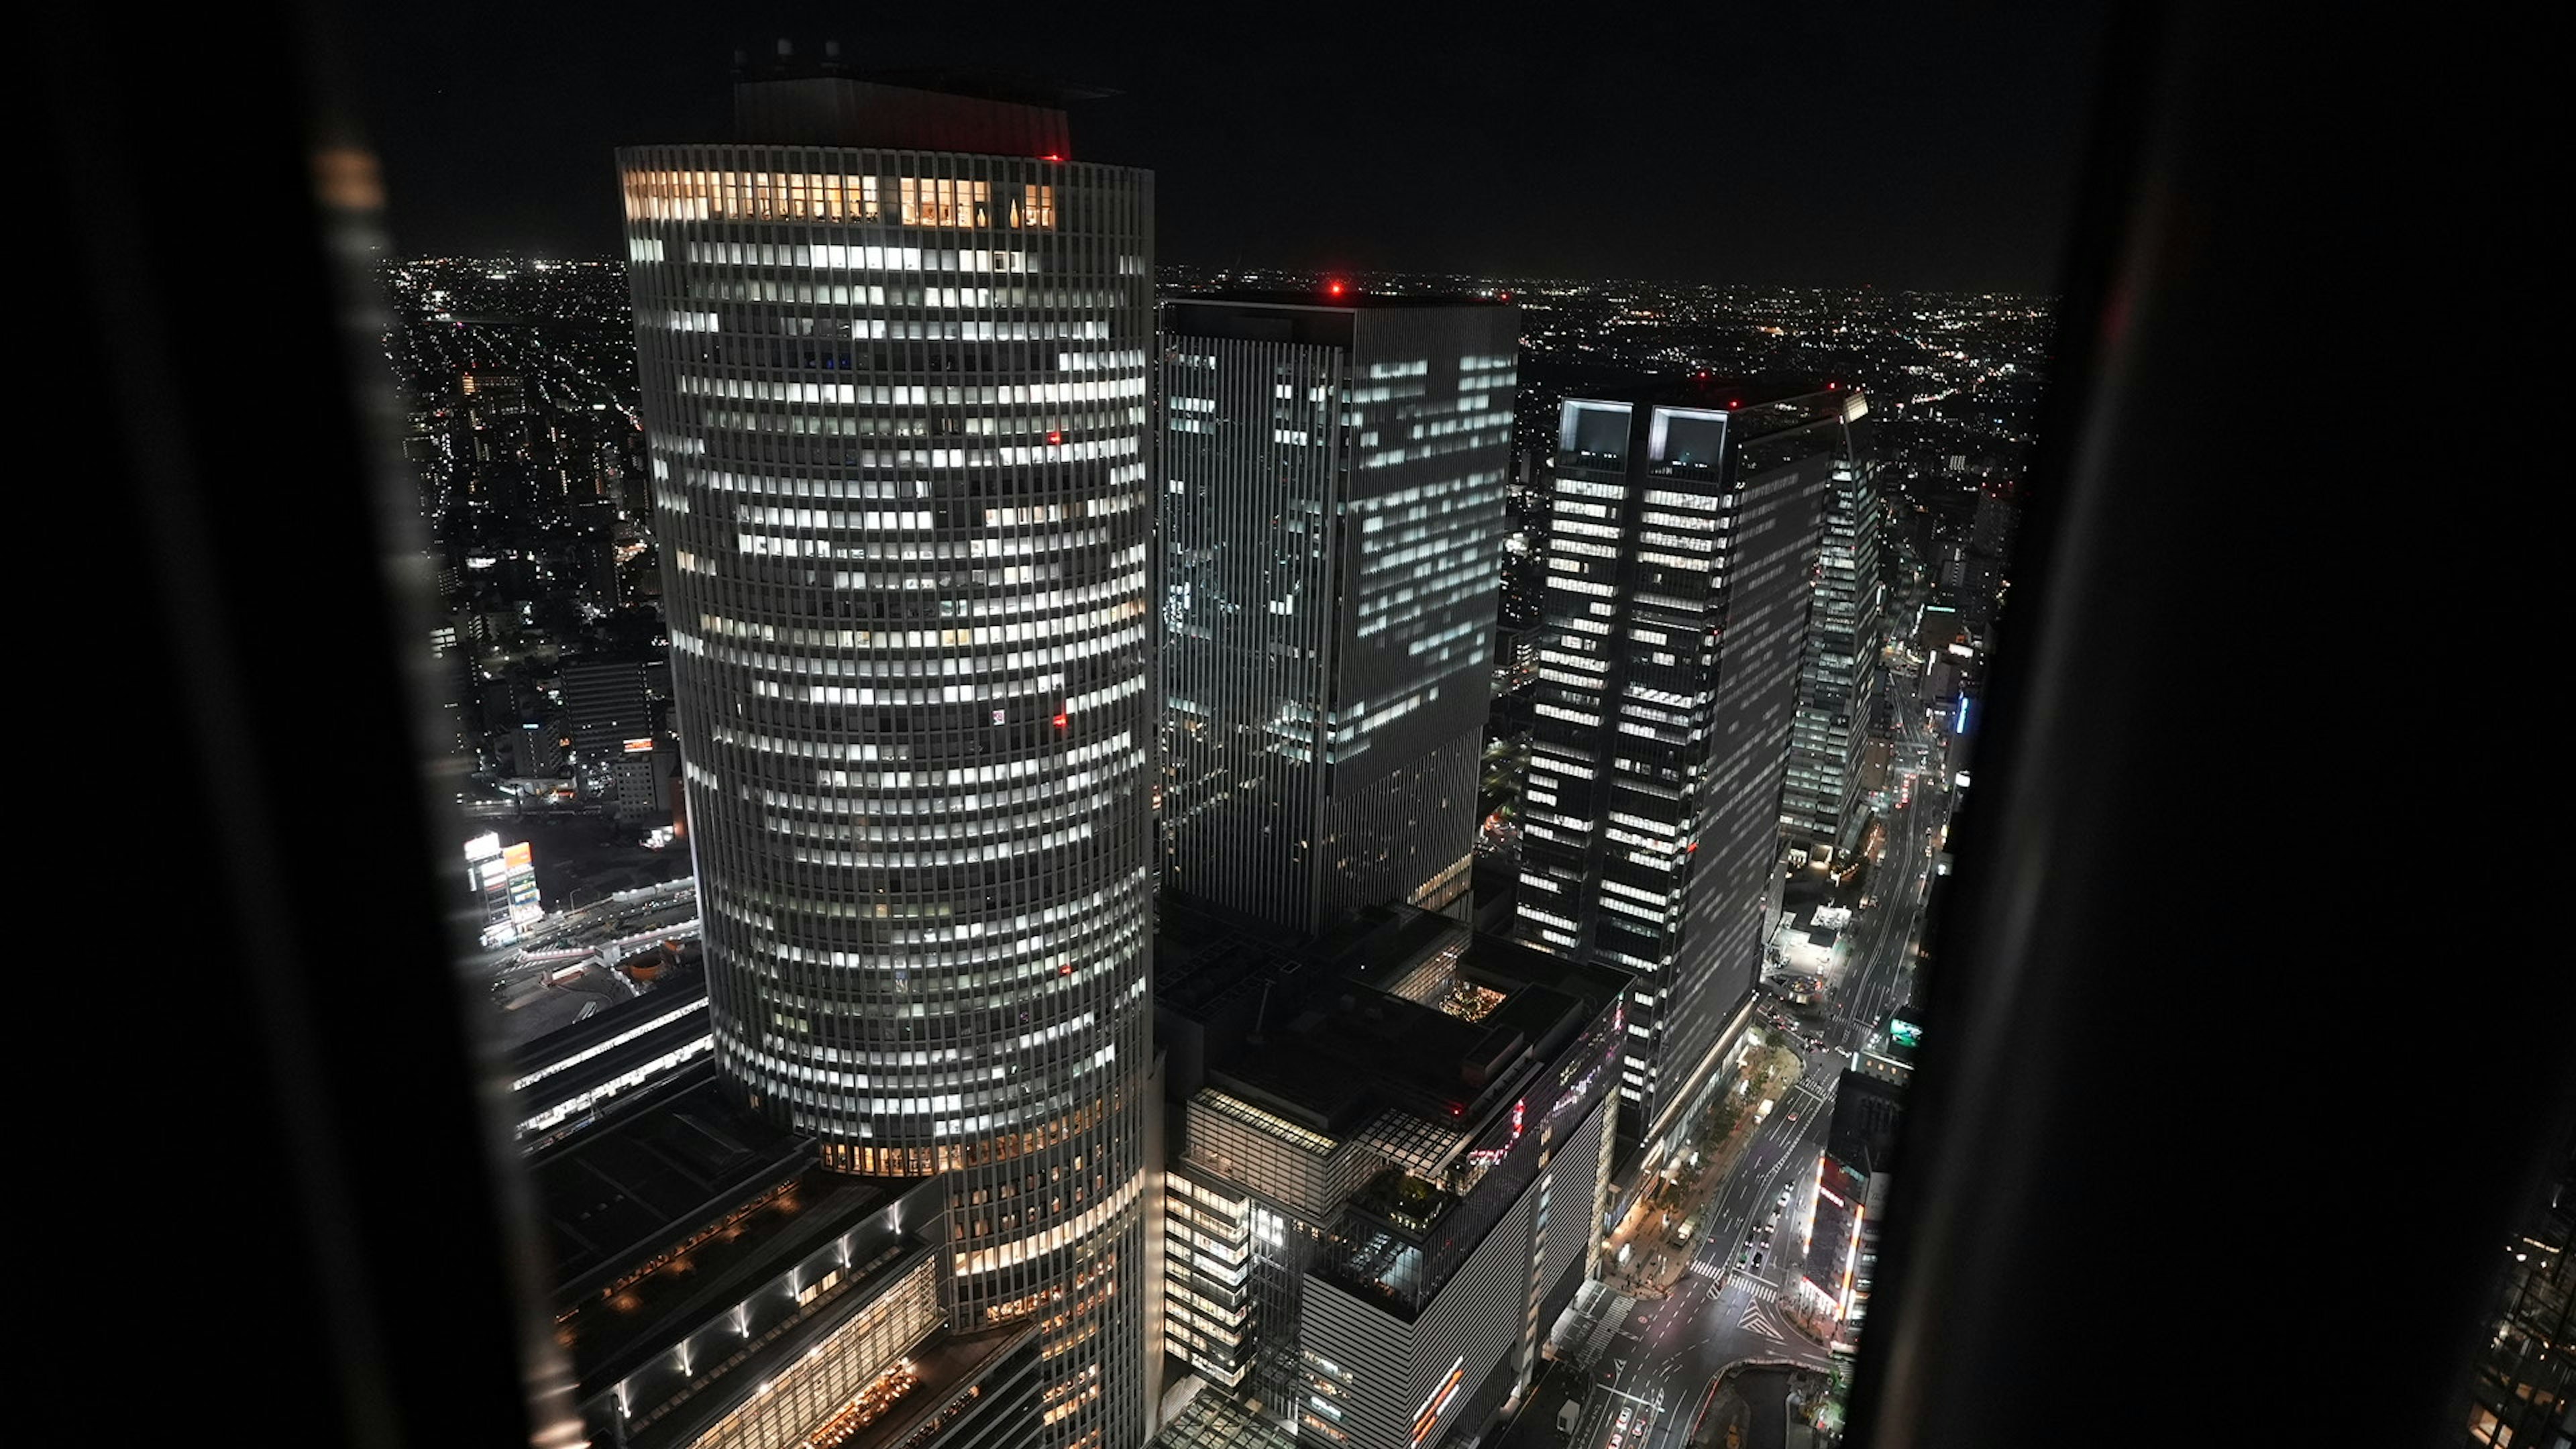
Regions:
[[734, 101], [618, 152], [716, 1062], [945, 1173], [956, 1320], [1038, 1325], [1043, 1444], [1131, 1449], [1151, 175], [1028, 95]]

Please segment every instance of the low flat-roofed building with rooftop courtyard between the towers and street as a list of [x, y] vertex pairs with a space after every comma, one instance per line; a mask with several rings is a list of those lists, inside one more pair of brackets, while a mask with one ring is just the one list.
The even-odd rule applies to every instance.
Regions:
[[1167, 908], [1170, 1354], [1306, 1444], [1484, 1428], [1600, 1245], [1625, 985], [1412, 908]]

